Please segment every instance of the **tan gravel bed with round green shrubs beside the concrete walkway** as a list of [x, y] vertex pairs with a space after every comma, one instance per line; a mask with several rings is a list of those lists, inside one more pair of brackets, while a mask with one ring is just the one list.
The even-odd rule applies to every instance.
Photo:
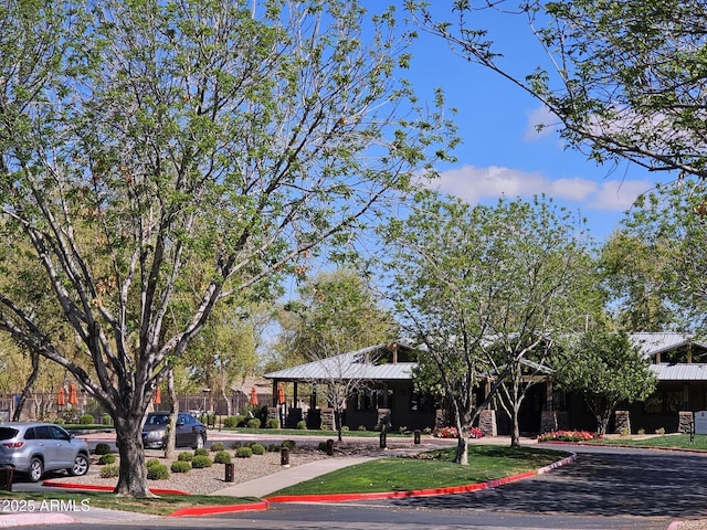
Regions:
[[[391, 447], [391, 449], [394, 449]], [[253, 455], [251, 458], [236, 458], [235, 451], [230, 451], [233, 455], [231, 462], [234, 467], [234, 481], [225, 481], [225, 466], [223, 464], [213, 464], [211, 467], [203, 469], [191, 469], [188, 473], [170, 473], [168, 479], [148, 480], [150, 488], [177, 489], [193, 495], [207, 495], [226, 488], [233, 484], [241, 484], [254, 480], [267, 475], [272, 475], [283, 470], [281, 465], [279, 453], [265, 453], [264, 455]], [[309, 462], [321, 458], [336, 458], [341, 456], [391, 456], [390, 452], [381, 452], [371, 444], [342, 444], [335, 446], [334, 456], [328, 456], [325, 452], [319, 451], [316, 446], [303, 445], [297, 446], [289, 454], [289, 467], [300, 466]], [[211, 453], [213, 458], [213, 453]], [[146, 451], [145, 458], [158, 458], [167, 467], [171, 465], [173, 459], [165, 458], [161, 451]], [[83, 477], [59, 476], [52, 477], [53, 483], [71, 483], [71, 484], [91, 484], [98, 486], [115, 486], [117, 478], [101, 478], [101, 467], [98, 457], [92, 456], [92, 465], [86, 475]], [[119, 462], [116, 460], [116, 465]]]

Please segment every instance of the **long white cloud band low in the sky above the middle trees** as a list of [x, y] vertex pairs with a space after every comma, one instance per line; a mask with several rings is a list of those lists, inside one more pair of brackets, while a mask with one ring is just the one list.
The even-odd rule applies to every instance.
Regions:
[[500, 197], [525, 199], [545, 193], [547, 197], [577, 203], [582, 209], [624, 211], [641, 193], [651, 189], [645, 180], [594, 181], [581, 177], [549, 179], [539, 171], [489, 166], [463, 166], [443, 171], [431, 188], [476, 204]]

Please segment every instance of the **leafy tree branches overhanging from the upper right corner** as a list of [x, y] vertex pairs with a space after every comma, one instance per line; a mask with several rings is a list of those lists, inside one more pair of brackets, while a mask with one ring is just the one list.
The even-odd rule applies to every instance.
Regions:
[[[458, 0], [451, 12], [405, 4], [428, 31], [471, 62], [540, 100], [570, 145], [599, 161], [627, 159], [651, 171], [707, 176], [707, 4], [701, 0]], [[538, 39], [545, 64], [504, 61], [489, 21]], [[446, 19], [446, 20], [445, 20]], [[520, 23], [519, 23], [520, 22]], [[513, 64], [513, 63], [511, 63]], [[524, 71], [525, 70], [525, 71]]]

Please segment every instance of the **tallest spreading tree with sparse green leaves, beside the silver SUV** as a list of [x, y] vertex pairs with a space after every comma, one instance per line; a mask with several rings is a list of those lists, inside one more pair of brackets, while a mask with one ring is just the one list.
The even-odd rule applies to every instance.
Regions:
[[146, 410], [214, 306], [276, 295], [444, 157], [394, 19], [338, 0], [0, 6], [3, 243], [32, 248], [91, 368], [9, 293], [0, 329], [110, 413], [117, 494], [148, 495]]

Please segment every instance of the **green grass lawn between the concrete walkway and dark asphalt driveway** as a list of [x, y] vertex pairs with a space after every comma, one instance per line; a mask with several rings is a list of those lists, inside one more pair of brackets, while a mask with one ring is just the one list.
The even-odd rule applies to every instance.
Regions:
[[560, 460], [567, 453], [535, 447], [469, 446], [469, 465], [454, 464], [454, 448], [429, 453], [430, 458], [380, 458], [347, 467], [272, 494], [327, 495], [410, 491], [485, 483], [531, 471]]

